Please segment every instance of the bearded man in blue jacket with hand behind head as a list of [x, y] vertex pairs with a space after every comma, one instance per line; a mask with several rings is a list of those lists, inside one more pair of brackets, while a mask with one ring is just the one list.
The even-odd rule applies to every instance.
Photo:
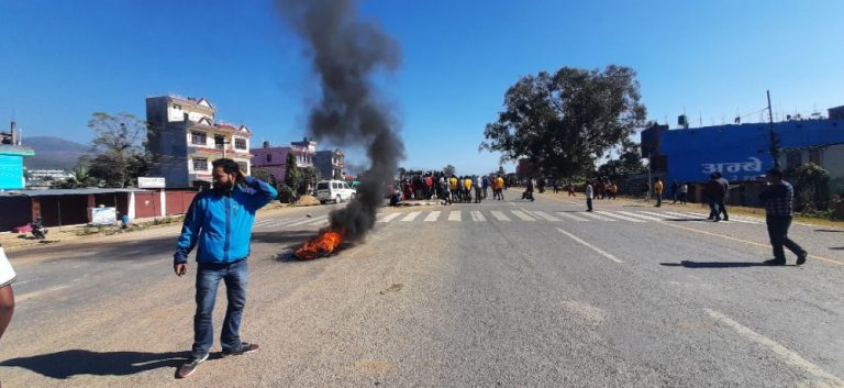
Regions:
[[193, 198], [185, 217], [178, 247], [174, 255], [176, 275], [188, 273], [188, 254], [197, 248], [197, 313], [193, 315], [193, 350], [176, 373], [190, 376], [208, 359], [214, 342], [211, 314], [220, 280], [225, 281], [229, 307], [225, 310], [220, 343], [223, 357], [258, 350], [257, 344], [241, 341], [238, 329], [246, 304], [249, 239], [255, 212], [278, 196], [276, 189], [241, 171], [227, 158], [213, 162], [213, 189]]

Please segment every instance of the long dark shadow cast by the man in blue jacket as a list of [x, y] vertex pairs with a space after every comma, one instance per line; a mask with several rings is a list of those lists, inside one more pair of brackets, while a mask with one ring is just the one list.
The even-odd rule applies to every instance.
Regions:
[[176, 368], [189, 352], [140, 353], [63, 351], [7, 359], [0, 365], [18, 366], [46, 377], [66, 379], [76, 375], [126, 376], [158, 368]]

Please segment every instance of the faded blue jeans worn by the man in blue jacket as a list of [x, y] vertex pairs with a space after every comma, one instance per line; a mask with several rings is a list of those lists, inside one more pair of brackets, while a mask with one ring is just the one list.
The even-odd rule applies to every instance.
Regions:
[[237, 334], [246, 306], [246, 284], [249, 280], [246, 259], [229, 263], [199, 263], [197, 268], [197, 313], [193, 315], [193, 350], [191, 356], [201, 358], [211, 351], [214, 343], [214, 328], [211, 322], [220, 280], [225, 282], [229, 307], [225, 309], [220, 345], [223, 352], [232, 352], [241, 345]]

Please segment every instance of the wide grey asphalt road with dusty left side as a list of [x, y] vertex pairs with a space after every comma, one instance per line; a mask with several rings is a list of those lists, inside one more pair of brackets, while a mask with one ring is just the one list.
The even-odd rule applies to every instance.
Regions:
[[[262, 350], [175, 368], [192, 341], [178, 228], [14, 252], [5, 387], [844, 387], [844, 230], [537, 195], [382, 210], [297, 262], [332, 207], [262, 214], [241, 334]], [[307, 218], [304, 214], [312, 217]], [[695, 214], [689, 214], [695, 213]], [[395, 214], [395, 215], [393, 215]], [[697, 214], [697, 215], [696, 215]], [[193, 275], [191, 266], [189, 275]], [[224, 312], [218, 298], [215, 329]], [[214, 344], [219, 352], [219, 344]]]

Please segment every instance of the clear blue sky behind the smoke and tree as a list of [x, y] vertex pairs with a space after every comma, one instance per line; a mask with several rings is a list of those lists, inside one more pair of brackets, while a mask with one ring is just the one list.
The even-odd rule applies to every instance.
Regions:
[[[288, 144], [315, 87], [276, 12], [269, 0], [0, 0], [0, 117], [14, 112], [24, 136], [86, 142], [92, 112], [143, 118], [146, 97], [173, 92], [210, 99], [254, 145]], [[504, 91], [563, 66], [633, 67], [659, 122], [684, 107], [693, 125], [731, 122], [764, 108], [766, 89], [782, 115], [844, 104], [841, 0], [367, 0], [360, 13], [402, 48], [382, 91], [409, 168], [495, 169], [477, 148]]]

